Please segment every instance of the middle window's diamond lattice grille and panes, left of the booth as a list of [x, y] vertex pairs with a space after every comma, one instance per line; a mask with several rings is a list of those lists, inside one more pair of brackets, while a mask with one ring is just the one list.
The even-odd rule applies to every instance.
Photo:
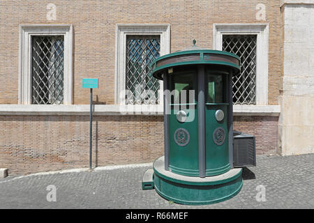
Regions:
[[151, 62], [160, 56], [160, 36], [126, 38], [126, 104], [158, 104], [159, 82]]

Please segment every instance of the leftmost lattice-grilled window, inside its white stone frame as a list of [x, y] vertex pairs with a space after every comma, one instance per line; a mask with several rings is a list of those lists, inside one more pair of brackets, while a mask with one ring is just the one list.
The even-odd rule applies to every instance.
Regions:
[[32, 104], [63, 103], [63, 36], [32, 36]]

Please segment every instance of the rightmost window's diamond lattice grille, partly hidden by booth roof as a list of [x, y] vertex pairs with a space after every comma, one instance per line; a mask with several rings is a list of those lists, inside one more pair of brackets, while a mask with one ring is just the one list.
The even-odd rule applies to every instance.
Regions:
[[256, 41], [256, 35], [223, 35], [223, 51], [241, 61], [241, 73], [232, 77], [234, 105], [256, 105]]

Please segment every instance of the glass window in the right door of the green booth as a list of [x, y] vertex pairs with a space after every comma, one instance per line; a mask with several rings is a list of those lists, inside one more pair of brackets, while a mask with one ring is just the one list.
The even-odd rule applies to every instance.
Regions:
[[227, 102], [227, 74], [221, 72], [206, 71], [206, 95], [207, 103]]

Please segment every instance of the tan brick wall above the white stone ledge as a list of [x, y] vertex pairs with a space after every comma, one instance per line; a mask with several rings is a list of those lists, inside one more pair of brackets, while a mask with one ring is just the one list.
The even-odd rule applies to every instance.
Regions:
[[[57, 7], [57, 20], [47, 20], [47, 4]], [[258, 3], [266, 21], [256, 20]], [[269, 23], [269, 105], [278, 105], [280, 80], [279, 0], [37, 0], [0, 1], [0, 104], [17, 104], [19, 24], [73, 24], [74, 104], [88, 104], [82, 77], [98, 77], [94, 91], [103, 104], [114, 103], [116, 24], [170, 24], [171, 52], [192, 45], [212, 48], [213, 23]]]

